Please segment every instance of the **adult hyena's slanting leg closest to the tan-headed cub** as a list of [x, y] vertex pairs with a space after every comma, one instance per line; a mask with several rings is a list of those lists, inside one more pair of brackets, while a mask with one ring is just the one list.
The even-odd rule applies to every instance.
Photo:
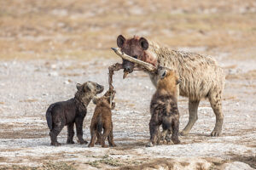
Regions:
[[181, 135], [187, 135], [190, 132], [191, 128], [194, 126], [195, 122], [197, 121], [197, 110], [199, 102], [200, 100], [189, 99], [189, 122], [187, 126], [183, 129], [183, 131], [180, 133]]

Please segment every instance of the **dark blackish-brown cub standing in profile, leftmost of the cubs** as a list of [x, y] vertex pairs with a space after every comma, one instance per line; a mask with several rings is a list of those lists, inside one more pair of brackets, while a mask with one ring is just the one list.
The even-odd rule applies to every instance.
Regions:
[[74, 144], [74, 124], [76, 124], [79, 143], [88, 143], [83, 139], [83, 122], [84, 116], [86, 116], [86, 107], [96, 94], [102, 93], [104, 87], [96, 82], [84, 82], [82, 85], [78, 83], [77, 89], [78, 91], [73, 99], [51, 104], [46, 111], [46, 120], [50, 130], [50, 144], [52, 145], [61, 145], [57, 142], [57, 136], [66, 125], [67, 144]]

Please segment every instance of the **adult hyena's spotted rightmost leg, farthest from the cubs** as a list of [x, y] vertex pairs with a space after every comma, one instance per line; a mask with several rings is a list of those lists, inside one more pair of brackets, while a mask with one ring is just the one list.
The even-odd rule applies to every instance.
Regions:
[[212, 106], [212, 110], [216, 116], [215, 127], [212, 130], [211, 136], [220, 136], [223, 126], [224, 115], [222, 112], [221, 103], [221, 93], [222, 90], [214, 90], [209, 94], [209, 101]]

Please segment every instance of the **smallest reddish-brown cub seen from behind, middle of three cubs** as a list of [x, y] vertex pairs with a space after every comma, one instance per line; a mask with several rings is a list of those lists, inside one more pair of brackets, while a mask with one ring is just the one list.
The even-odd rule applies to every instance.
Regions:
[[[96, 108], [90, 122], [91, 139], [90, 144], [88, 145], [89, 147], [93, 147], [94, 144], [102, 144], [102, 147], [108, 147], [105, 144], [105, 139], [107, 137], [109, 146], [116, 146], [113, 143], [113, 123], [111, 113], [111, 110], [114, 109], [114, 103], [112, 103], [112, 105], [110, 104], [110, 101], [113, 100], [114, 94], [115, 91], [110, 93], [108, 90], [101, 98], [93, 99], [93, 103], [96, 104]], [[102, 129], [104, 129], [103, 134]]]

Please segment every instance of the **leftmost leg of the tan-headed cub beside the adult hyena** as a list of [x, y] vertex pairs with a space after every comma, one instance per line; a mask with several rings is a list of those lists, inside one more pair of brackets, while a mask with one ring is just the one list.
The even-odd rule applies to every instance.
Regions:
[[152, 116], [149, 122], [150, 139], [146, 145], [147, 147], [154, 146], [154, 144], [157, 142], [159, 137], [159, 127], [160, 126], [157, 118]]

